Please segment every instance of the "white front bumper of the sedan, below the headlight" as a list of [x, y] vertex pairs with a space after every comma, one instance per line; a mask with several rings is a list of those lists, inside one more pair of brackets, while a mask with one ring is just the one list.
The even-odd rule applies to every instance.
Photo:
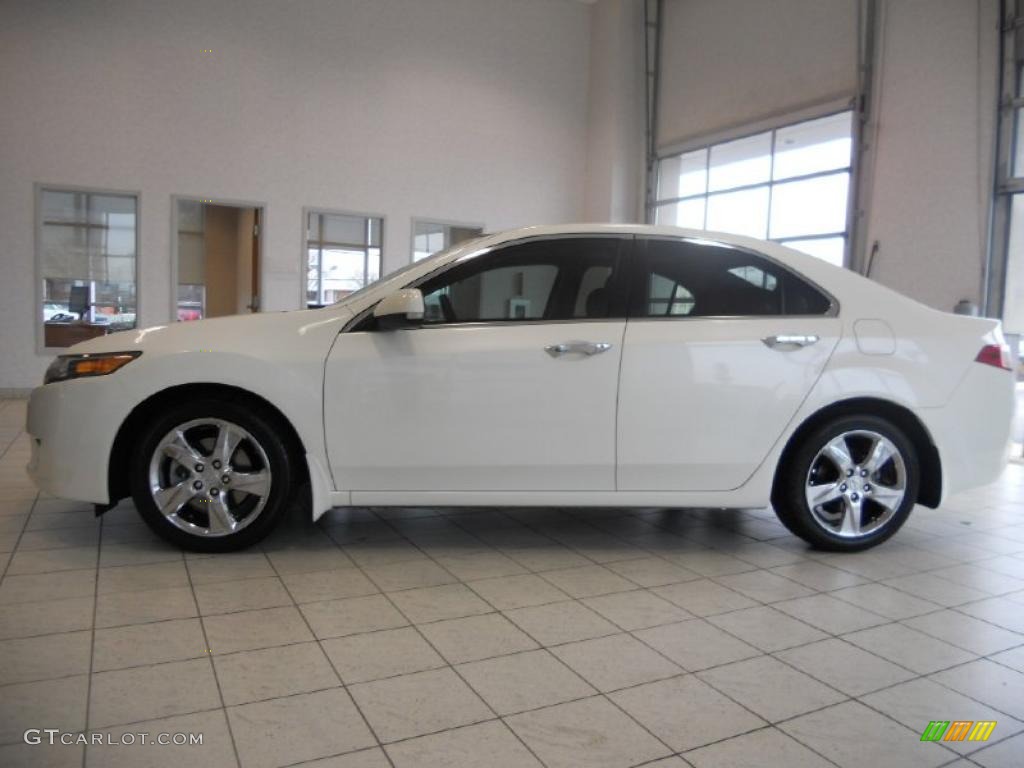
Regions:
[[32, 391], [26, 429], [29, 476], [59, 499], [106, 504], [111, 449], [124, 421], [122, 389], [108, 377], [47, 384]]

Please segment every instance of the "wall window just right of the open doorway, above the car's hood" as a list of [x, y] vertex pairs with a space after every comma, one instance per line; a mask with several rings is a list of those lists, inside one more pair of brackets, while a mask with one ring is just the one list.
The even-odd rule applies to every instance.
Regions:
[[310, 211], [306, 220], [306, 304], [333, 304], [381, 276], [384, 219]]

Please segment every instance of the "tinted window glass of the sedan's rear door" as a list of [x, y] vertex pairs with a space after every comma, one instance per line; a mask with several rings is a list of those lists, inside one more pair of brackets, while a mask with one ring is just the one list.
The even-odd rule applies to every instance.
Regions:
[[641, 249], [634, 316], [824, 314], [828, 299], [756, 254], [720, 246], [651, 240]]

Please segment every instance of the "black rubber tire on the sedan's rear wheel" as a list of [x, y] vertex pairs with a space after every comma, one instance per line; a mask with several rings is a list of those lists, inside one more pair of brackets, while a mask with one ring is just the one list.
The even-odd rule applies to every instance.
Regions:
[[[857, 451], [855, 449], [859, 449], [860, 441], [866, 442], [869, 438], [857, 434], [861, 432], [882, 435], [895, 446], [902, 462], [902, 487], [904, 493], [902, 501], [892, 511], [891, 516], [885, 519], [884, 522], [878, 523], [878, 527], [860, 536], [842, 536], [827, 522], [823, 521], [822, 518], [830, 515], [830, 510], [841, 509], [843, 501], [840, 499], [836, 502], [829, 502], [829, 505], [833, 506], [828, 511], [815, 514], [808, 503], [806, 489], [808, 483], [812, 480], [812, 469], [815, 473], [822, 470], [825, 472], [837, 471], [838, 473], [839, 465], [828, 461], [822, 463], [822, 460], [819, 458], [819, 452], [841, 435], [853, 433], [852, 437], [845, 441], [851, 447], [850, 455], [855, 460], [857, 470], [864, 471], [859, 466], [860, 460], [864, 457], [856, 455]], [[882, 471], [885, 473], [898, 472], [899, 469], [897, 466], [896, 460], [892, 460], [885, 465]], [[853, 480], [857, 480], [858, 482], [863, 480], [871, 488], [871, 492], [876, 494], [880, 490], [879, 483], [872, 484], [873, 478], [865, 477], [858, 480], [857, 475], [859, 475], [859, 471], [855, 471]], [[849, 482], [851, 485], [849, 493], [854, 493], [858, 489], [853, 485], [853, 480]], [[826, 477], [825, 481], [842, 482], [844, 480], [843, 477], [835, 480], [831, 477]], [[814, 429], [788, 455], [776, 479], [772, 493], [772, 504], [779, 521], [796, 536], [799, 536], [813, 547], [833, 552], [859, 552], [882, 544], [882, 542], [892, 537], [906, 522], [906, 518], [910, 515], [913, 505], [918, 500], [920, 481], [921, 464], [918, 452], [914, 450], [913, 443], [899, 427], [878, 416], [842, 416]], [[844, 484], [840, 487], [846, 489], [847, 485]], [[885, 511], [886, 508], [878, 505], [869, 496], [864, 495], [862, 492], [863, 485], [860, 488], [864, 510], [861, 521], [866, 520], [868, 526], [870, 526], [885, 517], [887, 514]], [[885, 490], [885, 485], [881, 485], [881, 489]], [[839, 515], [839, 512], [836, 514]], [[840, 518], [837, 517], [837, 519]]]

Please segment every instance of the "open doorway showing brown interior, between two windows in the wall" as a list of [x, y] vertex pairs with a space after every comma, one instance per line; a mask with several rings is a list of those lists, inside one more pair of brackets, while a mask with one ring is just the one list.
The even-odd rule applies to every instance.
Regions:
[[175, 198], [175, 318], [259, 311], [260, 206]]

